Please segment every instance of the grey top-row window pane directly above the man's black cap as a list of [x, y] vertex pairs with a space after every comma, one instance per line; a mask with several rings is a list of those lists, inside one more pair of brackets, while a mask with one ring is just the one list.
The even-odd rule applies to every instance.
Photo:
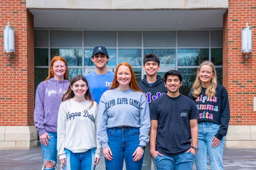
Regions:
[[115, 47], [116, 32], [115, 31], [84, 31], [84, 46]]

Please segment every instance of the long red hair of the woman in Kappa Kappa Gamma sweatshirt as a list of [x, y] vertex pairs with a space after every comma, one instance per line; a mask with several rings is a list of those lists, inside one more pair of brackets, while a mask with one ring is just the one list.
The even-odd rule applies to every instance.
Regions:
[[[131, 88], [133, 91], [140, 91], [140, 92], [142, 92], [142, 90], [139, 88], [138, 83], [137, 83], [137, 81], [136, 81], [135, 74], [134, 74], [134, 72], [133, 72], [132, 66], [131, 66], [129, 63], [127, 63], [127, 62], [122, 62], [122, 63], [120, 63], [120, 64], [116, 67], [116, 72], [115, 72], [114, 80], [113, 80], [112, 85], [111, 85], [111, 87], [110, 87], [109, 89], [115, 89], [115, 88], [117, 88], [117, 87], [119, 86], [119, 83], [118, 83], [118, 81], [116, 80], [116, 78], [117, 78], [116, 75], [117, 75], [118, 68], [119, 68], [120, 66], [127, 66], [127, 67], [129, 68], [130, 72], [131, 72], [132, 80], [131, 80], [130, 83], [129, 83], [130, 88]], [[142, 92], [142, 93], [143, 93], [143, 92]]]

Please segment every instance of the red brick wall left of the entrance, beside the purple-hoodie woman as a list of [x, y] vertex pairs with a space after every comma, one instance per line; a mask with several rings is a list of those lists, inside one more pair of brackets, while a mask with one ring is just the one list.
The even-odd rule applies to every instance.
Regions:
[[3, 54], [0, 31], [0, 126], [33, 125], [34, 26], [26, 0], [0, 1], [0, 25], [15, 27], [15, 54]]

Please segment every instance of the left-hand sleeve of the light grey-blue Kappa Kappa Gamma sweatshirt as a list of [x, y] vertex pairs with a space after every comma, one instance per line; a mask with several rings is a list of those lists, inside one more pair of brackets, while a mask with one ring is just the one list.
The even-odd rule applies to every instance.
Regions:
[[98, 118], [97, 118], [97, 138], [99, 140], [100, 145], [103, 148], [108, 147], [108, 134], [107, 134], [107, 108], [105, 105], [105, 97], [104, 94], [100, 98], [99, 103], [99, 111], [98, 111]]

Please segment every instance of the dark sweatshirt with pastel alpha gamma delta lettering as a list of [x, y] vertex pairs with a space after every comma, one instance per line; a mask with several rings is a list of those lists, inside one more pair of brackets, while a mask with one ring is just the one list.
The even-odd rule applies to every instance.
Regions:
[[196, 107], [199, 110], [198, 123], [209, 121], [215, 124], [220, 124], [220, 128], [214, 135], [219, 140], [227, 135], [228, 123], [230, 117], [228, 92], [225, 87], [217, 84], [216, 95], [209, 97], [205, 95], [207, 88], [202, 88], [198, 97], [192, 95], [193, 91], [189, 92], [188, 97], [193, 99]]

